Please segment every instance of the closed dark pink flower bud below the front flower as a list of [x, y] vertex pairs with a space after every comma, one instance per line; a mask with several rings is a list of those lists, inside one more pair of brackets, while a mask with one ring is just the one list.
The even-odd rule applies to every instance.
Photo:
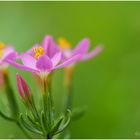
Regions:
[[24, 99], [31, 96], [31, 92], [26, 81], [18, 73], [16, 74], [16, 79], [20, 96]]

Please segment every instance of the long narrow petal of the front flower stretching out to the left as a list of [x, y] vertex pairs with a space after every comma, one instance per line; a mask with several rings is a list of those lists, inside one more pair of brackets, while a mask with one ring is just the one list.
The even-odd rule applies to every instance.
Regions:
[[6, 59], [6, 62], [23, 71], [30, 71], [30, 72], [35, 72], [35, 73], [39, 72], [37, 69], [32, 69], [32, 68], [26, 67], [24, 65], [18, 64], [17, 62], [15, 62], [11, 59]]

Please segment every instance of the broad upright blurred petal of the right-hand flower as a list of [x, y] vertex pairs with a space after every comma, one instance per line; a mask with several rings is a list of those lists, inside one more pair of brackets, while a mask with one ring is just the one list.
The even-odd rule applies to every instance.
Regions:
[[80, 41], [78, 43], [76, 48], [72, 51], [72, 54], [73, 55], [76, 55], [76, 54], [79, 54], [79, 53], [81, 55], [85, 54], [89, 49], [89, 44], [90, 44], [89, 39], [87, 39], [87, 38], [83, 39], [82, 41]]

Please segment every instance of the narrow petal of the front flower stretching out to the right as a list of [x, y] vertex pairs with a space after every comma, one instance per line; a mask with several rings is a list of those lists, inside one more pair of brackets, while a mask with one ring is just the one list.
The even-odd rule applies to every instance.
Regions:
[[56, 66], [55, 69], [57, 69], [57, 68], [63, 68], [63, 67], [66, 67], [68, 65], [71, 65], [71, 64], [79, 61], [80, 58], [81, 58], [81, 55], [80, 54], [74, 55], [71, 58], [69, 58], [66, 61], [64, 61], [62, 64], [59, 64], [58, 66]]

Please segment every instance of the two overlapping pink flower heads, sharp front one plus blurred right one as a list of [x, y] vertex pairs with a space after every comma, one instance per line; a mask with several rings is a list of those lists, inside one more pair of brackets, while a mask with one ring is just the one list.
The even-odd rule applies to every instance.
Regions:
[[[64, 68], [78, 61], [96, 56], [102, 50], [102, 46], [96, 47], [90, 53], [87, 52], [88, 49], [88, 39], [83, 39], [77, 44], [75, 49], [72, 49], [65, 39], [60, 39], [57, 45], [52, 36], [48, 35], [41, 44], [35, 44], [31, 49], [21, 53], [18, 57], [13, 55], [12, 52], [11, 57], [7, 57], [5, 61], [23, 71], [48, 75], [55, 69]], [[7, 50], [6, 53], [8, 53]], [[14, 51], [14, 54], [17, 54], [17, 52]], [[17, 63], [15, 57], [20, 59], [22, 64]]]

